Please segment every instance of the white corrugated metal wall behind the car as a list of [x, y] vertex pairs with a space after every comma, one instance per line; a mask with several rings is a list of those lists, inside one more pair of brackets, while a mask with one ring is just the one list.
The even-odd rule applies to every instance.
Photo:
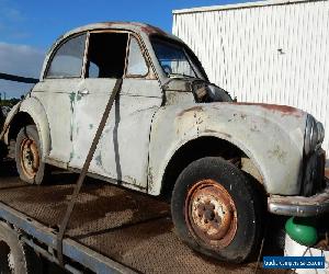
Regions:
[[173, 34], [238, 101], [311, 113], [329, 155], [329, 1], [174, 11]]

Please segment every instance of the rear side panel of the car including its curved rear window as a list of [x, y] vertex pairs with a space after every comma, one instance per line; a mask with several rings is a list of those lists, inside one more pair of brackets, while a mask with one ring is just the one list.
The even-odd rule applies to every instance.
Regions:
[[66, 164], [72, 151], [73, 103], [82, 76], [86, 37], [86, 33], [78, 34], [60, 43], [43, 80], [33, 89], [48, 118], [52, 148], [47, 158]]

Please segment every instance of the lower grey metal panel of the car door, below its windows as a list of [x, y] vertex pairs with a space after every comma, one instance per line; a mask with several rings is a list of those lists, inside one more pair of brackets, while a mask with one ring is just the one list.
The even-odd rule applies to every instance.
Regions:
[[[82, 168], [114, 82], [81, 80], [79, 90], [89, 93], [75, 98], [70, 168]], [[150, 125], [161, 102], [157, 80], [124, 79], [89, 172], [146, 191]]]

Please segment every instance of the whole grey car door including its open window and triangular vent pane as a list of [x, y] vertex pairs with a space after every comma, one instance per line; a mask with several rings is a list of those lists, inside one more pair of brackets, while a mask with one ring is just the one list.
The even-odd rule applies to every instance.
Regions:
[[117, 78], [123, 78], [89, 172], [147, 187], [151, 121], [162, 96], [140, 41], [127, 32], [89, 34], [86, 78], [73, 113], [71, 168], [81, 169]]

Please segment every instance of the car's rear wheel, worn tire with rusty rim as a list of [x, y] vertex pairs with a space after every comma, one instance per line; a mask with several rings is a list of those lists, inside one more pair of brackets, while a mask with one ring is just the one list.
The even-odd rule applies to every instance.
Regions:
[[48, 167], [42, 161], [42, 149], [35, 125], [22, 127], [15, 145], [16, 169], [22, 181], [41, 184], [48, 175]]

